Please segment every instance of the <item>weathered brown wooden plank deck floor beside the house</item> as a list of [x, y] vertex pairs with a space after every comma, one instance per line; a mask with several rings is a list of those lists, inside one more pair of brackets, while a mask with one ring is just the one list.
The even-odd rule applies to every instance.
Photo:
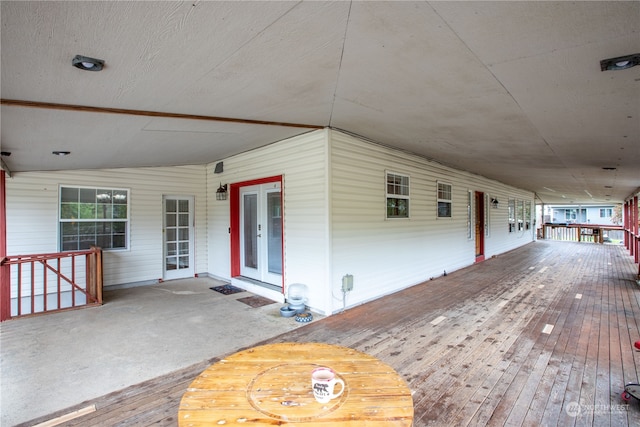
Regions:
[[[620, 398], [640, 374], [636, 270], [622, 247], [539, 241], [260, 344], [378, 357], [412, 390], [415, 427], [637, 426], [640, 401]], [[95, 405], [64, 425], [176, 426], [186, 387], [215, 361], [28, 425]]]

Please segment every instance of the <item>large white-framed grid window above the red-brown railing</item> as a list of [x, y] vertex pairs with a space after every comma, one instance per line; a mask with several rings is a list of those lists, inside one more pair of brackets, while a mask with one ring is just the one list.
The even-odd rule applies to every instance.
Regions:
[[60, 250], [129, 247], [129, 191], [60, 187]]

